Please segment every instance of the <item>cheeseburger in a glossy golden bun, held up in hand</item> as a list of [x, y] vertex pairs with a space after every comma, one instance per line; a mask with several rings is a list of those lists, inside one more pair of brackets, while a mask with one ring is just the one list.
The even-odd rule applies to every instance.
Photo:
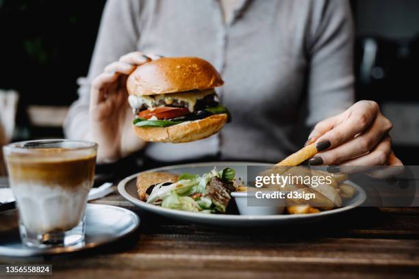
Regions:
[[214, 88], [217, 70], [198, 57], [166, 57], [138, 66], [127, 79], [134, 131], [147, 142], [192, 142], [220, 131], [229, 111]]

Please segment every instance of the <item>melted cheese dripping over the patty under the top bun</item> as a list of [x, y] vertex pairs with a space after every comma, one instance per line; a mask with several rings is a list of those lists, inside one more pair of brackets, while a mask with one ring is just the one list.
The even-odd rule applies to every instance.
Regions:
[[129, 95], [128, 103], [134, 109], [139, 109], [143, 104], [147, 105], [149, 109], [154, 109], [155, 107], [159, 107], [162, 105], [157, 105], [160, 100], [164, 100], [166, 105], [173, 104], [173, 101], [177, 99], [178, 101], [183, 101], [188, 103], [188, 109], [190, 112], [194, 111], [194, 107], [196, 104], [196, 100], [204, 98], [207, 95], [213, 94], [214, 89], [208, 90], [193, 90], [188, 92], [180, 92], [180, 93], [170, 93], [170, 94], [157, 94], [151, 96], [134, 96]]

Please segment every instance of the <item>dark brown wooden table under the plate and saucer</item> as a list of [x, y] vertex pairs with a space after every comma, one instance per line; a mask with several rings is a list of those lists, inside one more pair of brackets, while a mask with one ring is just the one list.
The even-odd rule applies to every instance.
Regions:
[[359, 208], [311, 225], [236, 230], [168, 220], [118, 194], [93, 203], [135, 211], [138, 232], [84, 254], [29, 262], [51, 263], [54, 277], [72, 279], [419, 278], [419, 208]]

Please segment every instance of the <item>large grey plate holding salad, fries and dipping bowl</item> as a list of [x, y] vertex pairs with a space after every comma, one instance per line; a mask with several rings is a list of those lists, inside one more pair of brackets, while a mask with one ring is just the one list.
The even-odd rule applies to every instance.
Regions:
[[[247, 166], [248, 165], [266, 165], [263, 163], [255, 162], [210, 162], [210, 163], [192, 163], [185, 165], [170, 165], [163, 168], [155, 168], [148, 170], [147, 172], [173, 172], [175, 174], [181, 174], [188, 172], [190, 174], [200, 174], [209, 172], [217, 166], [218, 169], [231, 167], [236, 170], [236, 175], [246, 180]], [[140, 174], [140, 173], [138, 173]], [[351, 181], [345, 181], [345, 183], [353, 185], [357, 189], [357, 194], [350, 200], [346, 200], [344, 207], [338, 209], [332, 209], [329, 211], [322, 211], [320, 213], [312, 214], [298, 214], [298, 215], [229, 215], [229, 214], [203, 214], [194, 213], [188, 211], [180, 211], [175, 209], [166, 209], [154, 204], [148, 204], [138, 198], [136, 178], [138, 174], [133, 174], [120, 181], [118, 184], [118, 191], [129, 202], [132, 202], [137, 207], [140, 207], [146, 211], [153, 212], [155, 214], [163, 215], [173, 219], [192, 222], [197, 224], [205, 225], [216, 225], [216, 226], [276, 226], [283, 224], [303, 224], [316, 222], [329, 217], [348, 211], [355, 207], [359, 207], [366, 200], [366, 193], [364, 189], [352, 183]]]

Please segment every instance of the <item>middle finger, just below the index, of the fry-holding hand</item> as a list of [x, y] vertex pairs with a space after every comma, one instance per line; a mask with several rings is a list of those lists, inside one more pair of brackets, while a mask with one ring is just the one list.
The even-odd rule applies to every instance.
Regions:
[[309, 160], [310, 165], [336, 165], [355, 157], [364, 155], [372, 150], [388, 133], [382, 121], [375, 121], [365, 133], [325, 152], [320, 152]]

